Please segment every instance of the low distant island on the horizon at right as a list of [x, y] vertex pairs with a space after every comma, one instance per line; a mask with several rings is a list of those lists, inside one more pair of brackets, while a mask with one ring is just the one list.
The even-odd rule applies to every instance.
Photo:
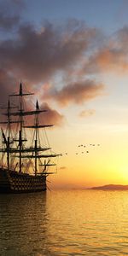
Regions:
[[128, 190], [128, 185], [119, 185], [119, 184], [109, 184], [100, 187], [92, 187], [90, 189], [97, 189], [97, 190]]

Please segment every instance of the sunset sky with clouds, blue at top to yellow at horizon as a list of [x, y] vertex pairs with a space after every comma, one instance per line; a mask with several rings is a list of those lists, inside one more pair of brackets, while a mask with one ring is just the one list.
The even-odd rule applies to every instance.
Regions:
[[127, 42], [126, 0], [0, 0], [0, 102], [21, 80], [49, 110], [49, 188], [128, 184]]

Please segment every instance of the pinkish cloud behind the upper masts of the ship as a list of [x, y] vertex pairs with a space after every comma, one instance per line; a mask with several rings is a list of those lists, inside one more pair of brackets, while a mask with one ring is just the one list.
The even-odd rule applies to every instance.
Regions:
[[[26, 91], [26, 88], [23, 86], [23, 91], [24, 92], [29, 92], [28, 90]], [[29, 84], [30, 86], [30, 84]], [[14, 77], [11, 76], [9, 73], [6, 73], [3, 71], [3, 69], [0, 69], [0, 89], [1, 89], [1, 94], [0, 94], [0, 108], [2, 107], [7, 107], [8, 106], [8, 100], [10, 100], [11, 107], [18, 106], [17, 104], [17, 97], [10, 97], [9, 95], [12, 95], [15, 92], [15, 83], [14, 83]], [[16, 92], [19, 92], [19, 88], [17, 86]], [[42, 122], [43, 124], [47, 125], [58, 125], [61, 126], [65, 122], [64, 116], [59, 113], [57, 110], [50, 108], [47, 103], [43, 103], [40, 106], [40, 109], [45, 109], [47, 110], [46, 113], [43, 113], [40, 115], [40, 123]], [[26, 98], [26, 110], [31, 111], [33, 110], [33, 104], [30, 100]], [[15, 110], [16, 111], [16, 110]], [[2, 111], [2, 113], [6, 112], [5, 109]], [[6, 119], [4, 116], [1, 116], [1, 121]], [[32, 124], [33, 122], [33, 117], [27, 116], [27, 121], [28, 124]]]

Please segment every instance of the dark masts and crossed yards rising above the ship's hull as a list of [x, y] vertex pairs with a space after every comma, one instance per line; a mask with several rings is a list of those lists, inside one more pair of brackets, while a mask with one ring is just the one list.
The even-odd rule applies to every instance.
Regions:
[[[15, 111], [15, 112], [11, 112], [10, 109], [10, 102], [8, 102], [8, 110], [7, 113], [4, 113], [4, 115], [7, 116], [8, 121], [6, 122], [1, 122], [1, 124], [8, 124], [8, 137], [6, 138], [3, 130], [2, 130], [2, 134], [3, 134], [3, 143], [5, 144], [6, 148], [0, 148], [0, 152], [6, 152], [7, 153], [7, 167], [9, 170], [9, 160], [10, 160], [10, 154], [13, 154], [13, 157], [18, 157], [19, 158], [19, 172], [22, 172], [22, 165], [23, 165], [23, 160], [22, 159], [27, 159], [30, 160], [32, 159], [34, 161], [34, 174], [35, 176], [37, 176], [38, 174], [41, 175], [48, 175], [52, 172], [47, 172], [46, 167], [47, 166], [55, 166], [55, 164], [52, 164], [49, 162], [50, 158], [55, 158], [56, 156], [59, 156], [61, 154], [40, 154], [41, 152], [47, 151], [51, 148], [46, 147], [46, 146], [41, 146], [40, 145], [40, 136], [39, 136], [39, 129], [44, 129], [45, 127], [51, 127], [53, 125], [40, 125], [39, 124], [39, 113], [43, 113], [46, 112], [47, 110], [42, 110], [39, 108], [38, 106], [38, 101], [36, 102], [36, 109], [35, 110], [31, 110], [31, 111], [26, 111], [24, 109], [24, 102], [23, 102], [23, 96], [30, 96], [33, 95], [33, 93], [25, 93], [22, 90], [22, 84], [20, 83], [20, 90], [19, 93], [17, 94], [12, 94], [10, 96], [18, 96], [19, 97], [19, 105], [20, 108]], [[33, 125], [24, 125], [24, 117], [26, 116], [30, 116], [30, 115], [34, 115], [34, 124]], [[18, 117], [19, 119], [17, 121], [11, 120], [10, 116], [15, 116]], [[10, 129], [11, 129], [11, 123], [19, 123], [18, 125], [18, 130], [19, 130], [19, 137], [18, 138], [14, 138], [13, 141], [17, 142], [18, 145], [14, 148], [14, 147], [10, 147]], [[29, 145], [29, 147], [25, 147], [25, 143], [27, 140], [25, 138], [25, 128], [30, 128], [30, 129], [34, 129], [34, 134], [33, 134], [33, 139], [32, 142], [34, 142], [34, 144]], [[15, 153], [15, 155], [14, 155]], [[42, 163], [41, 159], [44, 159], [44, 164]], [[47, 161], [46, 161], [47, 159]], [[39, 166], [44, 166], [44, 170], [41, 173], [38, 173], [38, 160], [39, 160]], [[16, 164], [17, 165], [17, 164]]]

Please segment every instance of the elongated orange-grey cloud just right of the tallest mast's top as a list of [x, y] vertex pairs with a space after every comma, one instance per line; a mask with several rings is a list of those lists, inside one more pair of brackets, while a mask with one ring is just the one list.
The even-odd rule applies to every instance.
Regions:
[[52, 98], [61, 107], [65, 107], [71, 103], [83, 104], [84, 102], [90, 101], [96, 96], [102, 95], [103, 89], [103, 84], [86, 79], [85, 81], [67, 84], [61, 90], [51, 90], [44, 97]]

